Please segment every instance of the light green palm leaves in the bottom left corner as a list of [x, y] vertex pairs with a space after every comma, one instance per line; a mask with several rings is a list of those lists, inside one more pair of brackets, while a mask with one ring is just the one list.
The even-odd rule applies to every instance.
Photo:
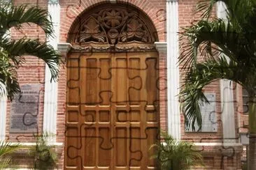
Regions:
[[13, 153], [20, 144], [11, 144], [10, 142], [0, 141], [0, 169], [6, 169], [10, 165], [11, 158], [8, 154]]

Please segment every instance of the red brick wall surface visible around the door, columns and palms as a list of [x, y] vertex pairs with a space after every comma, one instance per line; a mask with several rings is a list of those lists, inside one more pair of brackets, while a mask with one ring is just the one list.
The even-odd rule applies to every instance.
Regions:
[[[179, 26], [189, 26], [191, 22], [197, 20], [200, 14], [194, 15], [194, 10], [196, 8], [196, 3], [199, 0], [179, 0]], [[93, 8], [100, 3], [105, 3], [104, 0], [60, 0], [61, 6], [61, 23], [60, 23], [60, 42], [67, 42], [67, 37], [69, 30], [72, 26], [73, 21], [76, 17], [80, 16], [83, 11]], [[24, 1], [14, 1], [15, 4], [24, 3]], [[26, 3], [31, 3], [38, 5], [42, 8], [48, 7], [47, 0], [26, 0]], [[155, 25], [157, 30], [157, 35], [159, 41], [166, 41], [166, 1], [165, 0], [121, 0], [118, 3], [127, 3], [131, 6], [136, 6], [136, 8], [141, 9], [145, 12], [152, 23]], [[180, 31], [182, 31], [180, 29]], [[40, 40], [45, 40], [45, 35], [43, 31], [38, 28], [38, 26], [27, 26], [24, 25], [21, 31], [15, 29], [11, 30], [13, 38], [22, 38], [23, 36], [28, 36], [29, 38], [39, 38]], [[18, 71], [18, 78], [20, 84], [42, 84], [41, 87], [41, 98], [39, 104], [39, 123], [38, 130], [41, 132], [43, 126], [43, 90], [44, 90], [44, 72], [45, 66], [41, 60], [36, 59], [32, 56], [26, 56], [27, 63], [24, 64], [23, 68]], [[182, 66], [182, 65], [181, 65]], [[166, 106], [166, 54], [159, 54], [159, 88], [160, 88], [160, 127], [162, 130], [167, 129], [167, 106]], [[180, 82], [183, 82], [185, 72], [180, 70]], [[235, 86], [235, 84], [234, 84]], [[215, 92], [216, 100], [220, 101], [220, 83], [215, 81], [209, 84], [205, 91]], [[236, 136], [239, 137], [239, 132], [247, 132], [244, 124], [248, 123], [248, 116], [243, 115], [243, 105], [241, 98], [241, 87], [236, 86], [236, 91], [234, 91], [235, 101], [235, 111], [236, 111]], [[65, 137], [65, 107], [66, 107], [66, 65], [61, 65], [59, 82], [58, 82], [58, 107], [57, 107], [57, 142], [64, 143]], [[185, 132], [184, 130], [184, 118], [180, 114], [181, 119], [181, 136], [183, 140], [194, 141], [194, 142], [222, 142], [222, 122], [221, 122], [221, 107], [218, 103], [217, 108], [217, 120], [218, 120], [218, 132], [213, 133], [198, 133], [198, 132]], [[10, 122], [10, 103], [8, 102], [7, 107], [7, 120], [6, 120], [6, 139], [9, 141], [21, 141], [21, 142], [33, 142], [33, 134], [9, 134], [9, 122]], [[236, 148], [236, 153], [234, 157], [223, 157], [220, 150], [221, 147], [216, 148], [213, 146], [204, 147], [204, 161], [206, 167], [194, 167], [195, 169], [240, 169], [241, 153], [240, 148]], [[22, 161], [25, 163], [25, 161]], [[64, 162], [64, 149], [59, 148], [59, 169], [63, 169]]]

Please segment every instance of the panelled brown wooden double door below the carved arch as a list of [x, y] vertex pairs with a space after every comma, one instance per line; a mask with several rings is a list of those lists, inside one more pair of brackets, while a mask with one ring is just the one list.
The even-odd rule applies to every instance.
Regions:
[[157, 52], [73, 52], [67, 62], [64, 169], [157, 169]]

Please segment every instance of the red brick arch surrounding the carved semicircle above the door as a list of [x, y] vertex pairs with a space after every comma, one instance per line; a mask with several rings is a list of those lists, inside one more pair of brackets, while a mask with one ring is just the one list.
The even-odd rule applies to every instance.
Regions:
[[[102, 3], [110, 3], [105, 0], [90, 0], [90, 1], [61, 1], [61, 23], [60, 23], [60, 42], [68, 42], [69, 31], [75, 20], [85, 11], [94, 8]], [[127, 4], [127, 7], [131, 6], [137, 8], [141, 13], [148, 16], [148, 19], [155, 26], [155, 30], [159, 41], [165, 41], [165, 1], [133, 1], [133, 0], [121, 0], [116, 3]], [[74, 5], [75, 4], [75, 5]]]

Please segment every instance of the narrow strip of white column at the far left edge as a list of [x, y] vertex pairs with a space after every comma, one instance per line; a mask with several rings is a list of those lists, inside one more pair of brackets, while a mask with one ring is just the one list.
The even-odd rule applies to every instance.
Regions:
[[0, 98], [0, 141], [6, 138], [6, 96]]

